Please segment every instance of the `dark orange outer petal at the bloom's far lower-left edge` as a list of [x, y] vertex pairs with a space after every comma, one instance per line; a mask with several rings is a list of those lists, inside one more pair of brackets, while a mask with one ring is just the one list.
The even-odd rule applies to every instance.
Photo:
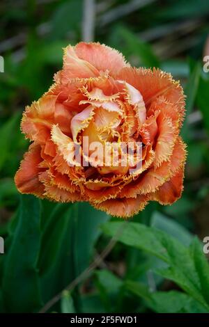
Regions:
[[38, 166], [42, 161], [40, 150], [40, 145], [31, 144], [29, 151], [24, 154], [19, 170], [17, 170], [15, 184], [21, 193], [34, 194], [42, 198], [44, 186], [38, 179], [38, 174], [43, 171]]

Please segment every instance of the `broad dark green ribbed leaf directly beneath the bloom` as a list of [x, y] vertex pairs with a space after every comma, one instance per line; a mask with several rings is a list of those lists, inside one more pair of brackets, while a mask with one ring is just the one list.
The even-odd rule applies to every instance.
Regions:
[[93, 246], [101, 233], [100, 224], [109, 216], [84, 202], [59, 204], [47, 219], [39, 258], [44, 301], [64, 289], [88, 267]]

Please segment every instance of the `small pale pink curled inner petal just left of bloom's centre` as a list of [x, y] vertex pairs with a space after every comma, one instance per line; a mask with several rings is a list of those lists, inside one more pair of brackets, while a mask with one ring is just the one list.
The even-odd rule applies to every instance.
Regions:
[[70, 124], [70, 129], [72, 131], [72, 138], [75, 143], [77, 143], [77, 136], [80, 131], [83, 131], [86, 127], [88, 127], [89, 123], [93, 118], [93, 106], [88, 106], [81, 113], [77, 113]]

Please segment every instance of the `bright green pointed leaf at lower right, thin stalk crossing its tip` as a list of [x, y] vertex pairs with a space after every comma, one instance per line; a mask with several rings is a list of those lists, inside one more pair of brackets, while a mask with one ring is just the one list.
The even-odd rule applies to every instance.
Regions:
[[[114, 236], [119, 228], [120, 222], [106, 223], [103, 226], [105, 233]], [[123, 244], [134, 246], [155, 255], [168, 264], [167, 269], [158, 269], [160, 276], [173, 280], [185, 290], [196, 301], [209, 310], [209, 306], [201, 293], [199, 276], [189, 249], [177, 239], [157, 230], [148, 228], [139, 223], [129, 223], [118, 240]]]

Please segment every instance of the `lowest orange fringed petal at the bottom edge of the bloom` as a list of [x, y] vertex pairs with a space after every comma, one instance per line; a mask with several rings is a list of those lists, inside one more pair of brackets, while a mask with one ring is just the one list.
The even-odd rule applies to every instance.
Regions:
[[143, 210], [147, 202], [147, 196], [137, 196], [137, 198], [106, 200], [99, 204], [91, 204], [111, 216], [127, 218]]

